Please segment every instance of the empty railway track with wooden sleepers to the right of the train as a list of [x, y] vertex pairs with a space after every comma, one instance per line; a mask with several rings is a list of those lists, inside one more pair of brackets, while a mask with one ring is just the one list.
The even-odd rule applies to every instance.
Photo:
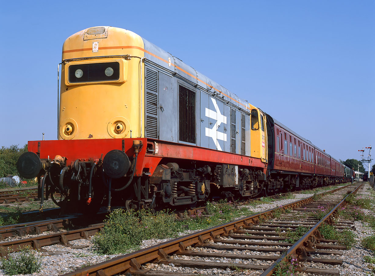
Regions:
[[[356, 188], [358, 190], [359, 186]], [[108, 260], [104, 263], [86, 267], [65, 276], [100, 275], [110, 276], [117, 273], [131, 275], [166, 276], [166, 275], [196, 275], [196, 273], [214, 274], [215, 269], [254, 270], [251, 275], [272, 275], [278, 263], [295, 258], [300, 266], [296, 269], [310, 274], [339, 275], [335, 266], [342, 260], [335, 256], [342, 255], [345, 246], [333, 244], [336, 240], [324, 239], [318, 227], [324, 221], [332, 222], [333, 215], [344, 200], [338, 199], [347, 195], [349, 187], [342, 187], [335, 195], [326, 196], [321, 200], [312, 197], [258, 213], [242, 219], [237, 219], [208, 230], [199, 231], [169, 242], [161, 243], [147, 249], [133, 252]], [[355, 192], [355, 191], [354, 191]], [[319, 210], [321, 207], [331, 211], [323, 219], [306, 216], [306, 210]], [[277, 210], [292, 208], [290, 213], [278, 219], [272, 219]], [[298, 226], [308, 227], [307, 233], [297, 242], [285, 242], [282, 231], [296, 231]], [[287, 226], [287, 227], [286, 227]], [[336, 223], [338, 229], [349, 229], [353, 222], [341, 221]], [[276, 229], [279, 230], [275, 231]], [[338, 230], [340, 231], [340, 230]], [[332, 256], [333, 255], [333, 256]], [[281, 257], [282, 256], [282, 257]], [[233, 262], [233, 260], [243, 260]], [[321, 264], [328, 268], [309, 267], [308, 264]], [[145, 268], [151, 267], [152, 270]], [[174, 268], [173, 272], [163, 268]], [[179, 269], [176, 269], [179, 268]], [[184, 270], [190, 270], [187, 273]], [[193, 270], [195, 272], [193, 273]], [[196, 271], [199, 269], [199, 272]]]

